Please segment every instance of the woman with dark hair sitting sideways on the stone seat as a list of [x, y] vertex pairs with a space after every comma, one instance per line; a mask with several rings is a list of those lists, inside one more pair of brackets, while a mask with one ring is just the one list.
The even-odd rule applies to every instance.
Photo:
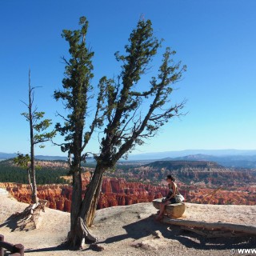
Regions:
[[157, 220], [160, 220], [163, 217], [163, 212], [165, 210], [166, 205], [169, 205], [170, 203], [176, 203], [174, 196], [177, 191], [177, 185], [174, 181], [175, 178], [172, 175], [167, 175], [166, 182], [168, 182], [169, 193], [167, 194], [166, 198], [162, 199], [159, 214], [158, 217], [156, 218]]

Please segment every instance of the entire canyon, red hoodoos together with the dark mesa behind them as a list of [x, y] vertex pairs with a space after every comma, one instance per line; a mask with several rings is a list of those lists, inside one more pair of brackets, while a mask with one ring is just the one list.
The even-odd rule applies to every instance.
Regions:
[[[42, 166], [68, 168], [62, 162], [40, 162]], [[94, 169], [83, 167], [82, 192], [90, 182]], [[98, 209], [110, 206], [127, 206], [140, 202], [152, 202], [168, 193], [165, 178], [174, 174], [178, 188], [186, 202], [219, 205], [256, 205], [255, 170], [231, 170], [216, 162], [158, 161], [142, 166], [117, 167], [106, 171]], [[70, 176], [63, 176], [67, 184], [38, 185], [38, 198], [48, 201], [52, 209], [70, 212], [72, 186]], [[30, 203], [30, 186], [14, 182], [2, 182], [19, 202]]]

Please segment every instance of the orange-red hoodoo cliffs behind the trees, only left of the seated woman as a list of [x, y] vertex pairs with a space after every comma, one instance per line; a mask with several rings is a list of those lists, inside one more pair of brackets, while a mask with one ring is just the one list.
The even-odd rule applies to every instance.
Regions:
[[[82, 178], [82, 189], [86, 190], [90, 177]], [[20, 202], [30, 203], [30, 186], [17, 183], [0, 183]], [[126, 182], [123, 178], [104, 178], [102, 193], [97, 209], [110, 206], [126, 206], [138, 202], [152, 202], [167, 193], [166, 187], [145, 185], [139, 182]], [[70, 185], [38, 185], [38, 198], [48, 201], [52, 209], [70, 212], [72, 186]]]

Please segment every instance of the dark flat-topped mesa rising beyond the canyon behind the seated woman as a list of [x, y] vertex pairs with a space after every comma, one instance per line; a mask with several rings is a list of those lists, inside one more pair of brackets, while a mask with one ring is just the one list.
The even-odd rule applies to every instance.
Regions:
[[211, 161], [159, 160], [143, 166], [136, 166], [132, 171], [123, 170], [122, 175], [129, 177], [128, 175], [131, 173], [137, 180], [149, 179], [152, 182], [160, 182], [166, 178], [166, 175], [173, 174], [179, 182], [187, 185], [201, 183], [203, 186], [208, 184], [213, 187], [237, 186], [236, 184], [250, 186], [256, 181], [254, 170], [229, 168]]

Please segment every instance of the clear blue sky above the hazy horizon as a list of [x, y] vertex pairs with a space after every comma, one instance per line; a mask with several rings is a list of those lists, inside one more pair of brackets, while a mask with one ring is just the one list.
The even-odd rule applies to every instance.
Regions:
[[[39, 111], [54, 123], [68, 55], [63, 29], [89, 20], [87, 42], [95, 55], [94, 86], [118, 74], [114, 53], [122, 51], [141, 15], [149, 18], [163, 46], [177, 51], [187, 72], [174, 91], [186, 98], [186, 116], [174, 118], [134, 154], [189, 149], [256, 149], [255, 0], [6, 0], [0, 2], [0, 152], [29, 153], [29, 127], [21, 113], [28, 100], [28, 70]], [[158, 63], [158, 58], [156, 59]], [[154, 75], [154, 74], [152, 74]], [[144, 85], [146, 86], [146, 85]], [[98, 136], [88, 151], [98, 151]], [[58, 146], [36, 154], [63, 155]]]

